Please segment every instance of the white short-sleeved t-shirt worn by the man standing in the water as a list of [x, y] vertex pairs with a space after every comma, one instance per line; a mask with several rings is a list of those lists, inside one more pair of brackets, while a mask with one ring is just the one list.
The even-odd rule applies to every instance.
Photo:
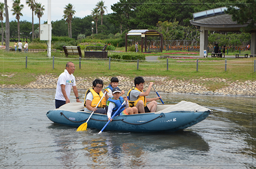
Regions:
[[63, 93], [61, 91], [61, 84], [65, 85], [65, 91], [69, 99], [72, 86], [75, 86], [75, 76], [73, 74], [69, 74], [68, 70], [66, 69], [59, 76], [59, 79], [57, 82], [55, 99], [65, 101], [66, 99], [64, 98]]

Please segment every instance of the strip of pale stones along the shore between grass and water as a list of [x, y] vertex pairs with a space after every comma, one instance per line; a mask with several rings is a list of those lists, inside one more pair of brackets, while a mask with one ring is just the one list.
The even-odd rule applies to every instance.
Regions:
[[[3, 76], [3, 75], [2, 75]], [[104, 82], [104, 87], [110, 83], [111, 77], [98, 77]], [[120, 89], [128, 92], [128, 90], [134, 85], [133, 79], [128, 77], [117, 77], [119, 79]], [[154, 82], [154, 86], [158, 92], [166, 93], [188, 93], [188, 94], [203, 94], [203, 95], [223, 95], [223, 96], [256, 96], [256, 81], [236, 81], [230, 82], [221, 78], [200, 78], [191, 79], [189, 81], [183, 80], [169, 80], [168, 77], [143, 77], [145, 82], [144, 88], [148, 87], [150, 81]], [[31, 82], [28, 85], [5, 85], [1, 88], [30, 88], [30, 89], [56, 89], [58, 77], [54, 77], [51, 74], [41, 75], [37, 77], [37, 80]], [[75, 77], [76, 85], [79, 90], [87, 90], [92, 86], [94, 78], [82, 78]], [[206, 86], [203, 86], [203, 81], [221, 81], [225, 84], [224, 87], [215, 91], [210, 91]], [[153, 90], [153, 89], [151, 89]]]

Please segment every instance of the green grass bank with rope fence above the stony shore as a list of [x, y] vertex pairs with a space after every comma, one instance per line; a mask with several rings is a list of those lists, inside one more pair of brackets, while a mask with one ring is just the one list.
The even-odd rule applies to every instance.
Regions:
[[[5, 52], [1, 50], [0, 60], [2, 71], [0, 76], [1, 84], [29, 84], [35, 80], [39, 74], [53, 74], [58, 77], [65, 69], [68, 61], [74, 62], [76, 66], [75, 77], [112, 77], [124, 76], [132, 80], [136, 76], [166, 77], [169, 79], [200, 79], [202, 78], [222, 78], [228, 81], [253, 81], [253, 60], [227, 58], [228, 65], [225, 72], [224, 58], [200, 58], [198, 71], [196, 71], [196, 59], [169, 59], [169, 69], [166, 67], [166, 59], [155, 62], [137, 62], [111, 60], [109, 70], [109, 60], [82, 59], [81, 69], [79, 69], [79, 59], [77, 56], [66, 58], [64, 53], [52, 53], [55, 56], [54, 69], [53, 58], [47, 58], [47, 53], [19, 53]], [[28, 57], [27, 68], [25, 58]], [[111, 57], [111, 52], [109, 52]], [[47, 79], [45, 79], [47, 81]], [[221, 88], [226, 85], [222, 81], [198, 81], [207, 85], [208, 88]]]

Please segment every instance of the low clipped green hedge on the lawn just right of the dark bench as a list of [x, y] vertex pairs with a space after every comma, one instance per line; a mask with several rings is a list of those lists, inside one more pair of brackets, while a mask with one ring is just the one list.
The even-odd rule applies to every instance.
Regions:
[[108, 55], [112, 59], [121, 59], [121, 60], [146, 60], [145, 55], [139, 52], [114, 52], [111, 55]]

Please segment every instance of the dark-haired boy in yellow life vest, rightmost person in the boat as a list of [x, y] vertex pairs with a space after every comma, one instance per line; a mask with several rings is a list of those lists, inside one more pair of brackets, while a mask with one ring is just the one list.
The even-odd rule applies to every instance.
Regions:
[[[150, 82], [146, 92], [143, 92], [144, 82], [143, 77], [134, 78], [135, 87], [129, 90], [127, 95], [129, 97], [129, 107], [137, 107], [139, 113], [155, 112], [157, 108], [157, 102], [155, 100], [162, 99], [162, 97], [146, 99], [146, 96], [149, 95], [151, 87], [153, 86], [153, 82]], [[150, 103], [146, 104], [147, 102]]]

